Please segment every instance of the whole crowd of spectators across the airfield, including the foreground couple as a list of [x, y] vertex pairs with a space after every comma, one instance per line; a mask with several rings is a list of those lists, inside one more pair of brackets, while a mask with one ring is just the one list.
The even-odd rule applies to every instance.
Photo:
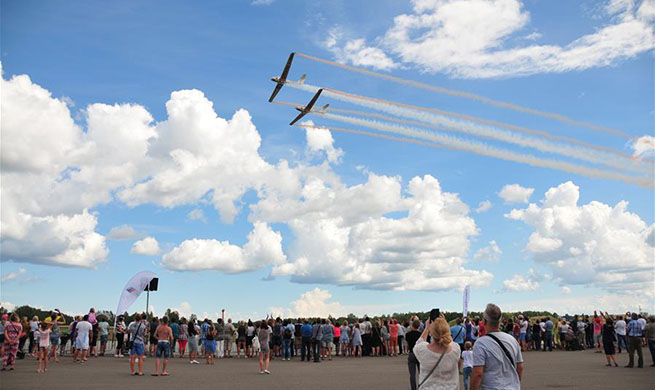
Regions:
[[393, 318], [368, 317], [340, 323], [329, 318], [265, 318], [233, 323], [224, 315], [214, 322], [194, 317], [148, 317], [144, 313], [136, 314], [129, 324], [119, 316], [111, 329], [109, 319], [96, 315], [93, 308], [70, 324], [59, 310], [54, 310], [43, 320], [34, 317], [28, 321], [16, 313], [3, 314], [0, 345], [3, 370], [13, 370], [16, 359], [29, 354], [38, 359], [37, 372], [43, 373], [49, 361], [58, 362], [67, 351], [78, 364], [104, 356], [111, 333], [113, 356], [129, 354], [130, 373], [137, 376], [144, 375], [146, 356], [155, 358], [152, 375], [169, 375], [168, 360], [175, 353], [187, 358], [189, 364], [200, 364], [201, 357], [210, 365], [223, 358], [255, 359], [261, 374], [270, 374], [273, 359], [299, 358], [319, 363], [333, 356], [406, 354], [413, 390], [456, 389], [459, 374], [463, 375], [466, 390], [477, 390], [481, 383], [520, 388], [522, 354], [527, 351], [596, 349], [605, 354], [607, 366], [618, 366], [618, 349], [618, 353], [625, 350], [629, 354], [626, 367], [635, 366], [635, 354], [637, 366], [643, 367], [642, 347], [647, 346], [653, 359], [651, 366], [655, 366], [655, 316], [647, 320], [636, 313], [611, 316], [594, 312], [592, 316], [564, 318], [503, 317], [498, 306], [489, 304], [482, 317], [457, 318], [450, 326], [443, 315], [433, 320], [414, 316], [403, 323]]

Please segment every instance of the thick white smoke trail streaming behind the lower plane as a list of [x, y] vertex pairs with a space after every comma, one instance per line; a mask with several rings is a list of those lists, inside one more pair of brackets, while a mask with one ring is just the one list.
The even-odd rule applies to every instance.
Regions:
[[499, 149], [494, 146], [484, 144], [481, 142], [466, 140], [463, 138], [453, 137], [441, 133], [428, 132], [415, 127], [405, 127], [395, 124], [388, 124], [378, 121], [346, 117], [341, 115], [324, 114], [324, 116], [341, 122], [360, 125], [371, 129], [376, 129], [379, 131], [391, 132], [395, 134], [401, 134], [407, 137], [414, 137], [414, 138], [420, 138], [428, 141], [439, 142], [451, 149], [468, 151], [483, 156], [495, 157], [502, 160], [524, 163], [536, 167], [558, 169], [564, 172], [579, 174], [591, 178], [620, 180], [625, 183], [637, 184], [642, 187], [648, 187], [648, 188], [653, 187], [655, 184], [653, 183], [652, 178], [627, 176], [620, 173], [614, 173], [611, 171], [604, 171], [597, 168], [587, 167], [584, 165], [576, 165], [563, 161], [545, 159], [529, 154], [515, 153], [509, 150]]

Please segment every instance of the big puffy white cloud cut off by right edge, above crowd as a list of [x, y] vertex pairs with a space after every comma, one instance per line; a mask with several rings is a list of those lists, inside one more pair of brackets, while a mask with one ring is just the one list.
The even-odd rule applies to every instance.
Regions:
[[560, 284], [630, 290], [652, 299], [655, 225], [629, 212], [626, 201], [578, 205], [579, 197], [579, 187], [569, 181], [546, 191], [541, 205], [505, 217], [534, 228], [525, 250]]

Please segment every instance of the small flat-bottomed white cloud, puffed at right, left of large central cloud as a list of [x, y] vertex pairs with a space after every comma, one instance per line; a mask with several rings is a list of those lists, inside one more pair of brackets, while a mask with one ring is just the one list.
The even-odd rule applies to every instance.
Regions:
[[162, 257], [161, 264], [173, 271], [217, 270], [225, 273], [253, 271], [286, 261], [282, 235], [266, 223], [255, 222], [243, 246], [228, 241], [192, 239], [182, 242]]

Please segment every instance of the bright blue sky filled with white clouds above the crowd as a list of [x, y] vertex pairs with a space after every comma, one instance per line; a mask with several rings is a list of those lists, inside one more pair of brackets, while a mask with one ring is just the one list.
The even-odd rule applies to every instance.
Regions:
[[[129, 277], [152, 270], [161, 278], [151, 297], [159, 312], [461, 310], [466, 283], [473, 309], [494, 301], [508, 309], [652, 311], [652, 150], [639, 162], [650, 166], [651, 185], [639, 186], [448, 148], [310, 135], [287, 125], [295, 110], [267, 99], [269, 78], [296, 51], [620, 129], [632, 139], [298, 56], [292, 80], [306, 73], [311, 85], [633, 154], [636, 138], [653, 136], [653, 9], [651, 1], [4, 1], [2, 302], [113, 310]], [[417, 15], [430, 22], [420, 25]], [[51, 97], [34, 92], [40, 88]], [[310, 96], [285, 87], [277, 100]], [[240, 109], [248, 115], [216, 124], [211, 103], [220, 118]], [[325, 103], [364, 110], [322, 97]], [[187, 150], [196, 164], [176, 166], [174, 150]], [[214, 152], [238, 157], [215, 162]], [[39, 156], [49, 156], [47, 163], [35, 163]], [[288, 177], [302, 188], [285, 187]], [[519, 186], [501, 191], [512, 184]], [[432, 195], [417, 195], [423, 190]], [[542, 202], [549, 190], [551, 201]], [[220, 203], [218, 193], [229, 201]], [[484, 201], [491, 207], [476, 211]], [[615, 208], [623, 201], [625, 208]], [[233, 218], [226, 204], [236, 205]], [[117, 239], [112, 229], [121, 226], [133, 233]], [[157, 250], [132, 253], [146, 237]], [[626, 289], [643, 294], [628, 301]]]

